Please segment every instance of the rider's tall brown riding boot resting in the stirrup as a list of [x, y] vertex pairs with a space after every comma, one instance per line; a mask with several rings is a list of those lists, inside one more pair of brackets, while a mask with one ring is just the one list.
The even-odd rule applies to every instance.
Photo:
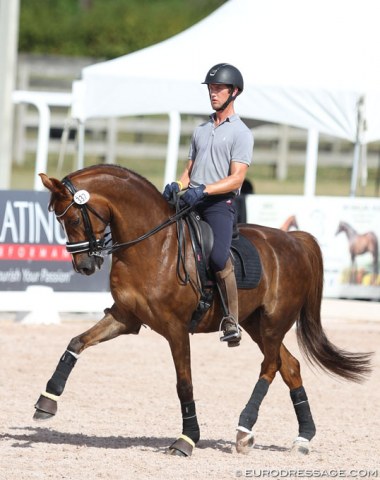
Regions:
[[224, 269], [216, 272], [215, 276], [224, 314], [220, 324], [220, 329], [223, 330], [220, 340], [228, 342], [229, 347], [238, 347], [241, 340], [241, 329], [238, 324], [238, 292], [231, 258], [227, 260]]

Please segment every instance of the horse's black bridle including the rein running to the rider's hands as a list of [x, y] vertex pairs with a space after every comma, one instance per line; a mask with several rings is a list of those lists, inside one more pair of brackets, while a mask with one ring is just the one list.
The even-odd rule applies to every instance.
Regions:
[[[108, 235], [111, 235], [111, 232], [106, 232], [103, 238], [97, 239], [92, 229], [88, 211], [90, 211], [93, 215], [95, 215], [95, 217], [97, 217], [105, 225], [109, 224], [109, 220], [108, 221], [104, 220], [104, 218], [102, 218], [101, 215], [99, 215], [99, 213], [97, 213], [94, 210], [94, 208], [92, 208], [87, 203], [87, 200], [89, 198], [88, 192], [84, 190], [77, 190], [68, 177], [65, 177], [62, 180], [62, 184], [68, 189], [68, 191], [73, 196], [73, 201], [65, 208], [65, 210], [62, 213], [60, 214], [56, 213], [55, 216], [57, 218], [62, 218], [73, 205], [78, 207], [82, 213], [84, 229], [85, 229], [86, 237], [88, 239], [81, 242], [66, 242], [66, 250], [71, 254], [88, 252], [89, 256], [102, 257], [102, 253], [106, 252], [109, 255], [111, 253], [114, 253], [117, 250], [130, 247], [132, 245], [135, 245], [136, 243], [141, 242], [142, 240], [145, 240], [146, 238], [151, 237], [152, 235], [159, 232], [160, 230], [163, 230], [169, 225], [172, 225], [173, 223], [178, 222], [180, 218], [182, 218], [186, 213], [188, 213], [192, 209], [192, 207], [186, 206], [181, 210], [177, 210], [174, 215], [169, 217], [163, 223], [161, 223], [160, 225], [157, 225], [149, 232], [144, 233], [143, 235], [141, 235], [138, 238], [135, 238], [134, 240], [130, 240], [129, 242], [113, 243], [112, 245], [108, 245], [108, 243], [110, 243], [112, 240], [106, 239], [106, 237]], [[83, 202], [81, 201], [81, 198], [80, 198], [80, 195], [82, 194], [82, 192], [83, 192], [83, 195], [87, 194], [88, 196], [88, 198], [84, 199]], [[79, 194], [79, 198], [78, 198], [78, 194]]]

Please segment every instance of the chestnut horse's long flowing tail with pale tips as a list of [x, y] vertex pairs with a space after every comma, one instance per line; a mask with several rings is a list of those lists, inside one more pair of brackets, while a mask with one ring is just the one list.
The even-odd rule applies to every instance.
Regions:
[[371, 372], [372, 353], [353, 353], [333, 345], [321, 324], [323, 261], [317, 241], [309, 236], [304, 247], [311, 263], [312, 286], [297, 320], [297, 340], [313, 364], [347, 380], [360, 382]]

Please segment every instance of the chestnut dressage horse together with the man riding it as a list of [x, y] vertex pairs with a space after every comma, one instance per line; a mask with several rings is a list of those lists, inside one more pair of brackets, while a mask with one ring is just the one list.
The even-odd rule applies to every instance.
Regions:
[[[229, 259], [233, 199], [251, 162], [253, 138], [233, 108], [236, 96], [243, 90], [240, 72], [231, 65], [219, 64], [208, 72], [204, 83], [215, 113], [195, 130], [189, 163], [179, 182], [166, 186], [164, 196], [170, 199], [174, 192], [188, 187], [183, 202], [189, 208], [195, 205], [215, 236], [211, 266], [224, 289], [228, 311], [223, 302], [213, 302], [194, 333], [222, 328], [222, 340], [236, 346], [240, 342], [238, 301]], [[173, 215], [173, 208], [152, 183], [116, 165], [87, 167], [66, 175], [62, 181], [46, 174], [41, 174], [41, 179], [51, 192], [49, 208], [66, 233], [66, 248], [75, 270], [91, 275], [101, 267], [102, 254], [112, 252], [110, 290], [114, 303], [105, 309], [101, 320], [70, 340], [35, 404], [33, 418], [47, 420], [57, 413], [58, 399], [85, 349], [120, 335], [137, 334], [146, 325], [168, 341], [176, 371], [182, 433], [168, 452], [190, 456], [200, 439], [200, 428], [192, 383], [189, 319], [201, 292], [196, 288], [197, 266], [189, 232], [183, 235], [187, 242], [181, 254], [189, 261], [186, 279], [181, 281], [179, 269], [175, 268], [175, 259], [179, 258], [179, 217]], [[179, 211], [180, 216], [184, 211], [187, 208]], [[108, 228], [111, 246], [107, 246]], [[255, 246], [261, 262], [257, 285], [238, 290], [240, 323], [258, 344], [263, 361], [238, 419], [236, 450], [248, 453], [252, 448], [260, 405], [279, 373], [289, 389], [297, 417], [298, 436], [293, 449], [308, 453], [316, 428], [300, 364], [283, 343], [286, 333], [296, 324], [297, 339], [307, 358], [348, 380], [360, 381], [370, 373], [371, 354], [342, 350], [324, 332], [323, 258], [312, 235], [249, 224], [242, 225], [240, 233], [241, 239]], [[163, 274], [165, 282], [157, 282]], [[240, 369], [242, 381], [251, 375], [251, 364], [245, 362]]]

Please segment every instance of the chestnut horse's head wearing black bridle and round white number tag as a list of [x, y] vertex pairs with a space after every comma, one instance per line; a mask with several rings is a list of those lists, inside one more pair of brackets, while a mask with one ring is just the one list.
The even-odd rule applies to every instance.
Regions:
[[74, 187], [69, 177], [63, 181], [44, 173], [40, 177], [51, 192], [49, 210], [55, 213], [65, 231], [66, 248], [72, 255], [75, 271], [92, 275], [103, 263], [101, 252], [110, 217], [106, 202], [79, 182]]

